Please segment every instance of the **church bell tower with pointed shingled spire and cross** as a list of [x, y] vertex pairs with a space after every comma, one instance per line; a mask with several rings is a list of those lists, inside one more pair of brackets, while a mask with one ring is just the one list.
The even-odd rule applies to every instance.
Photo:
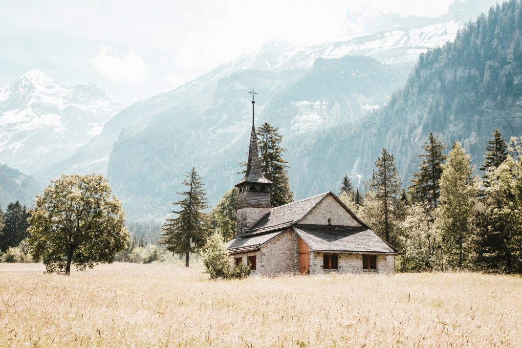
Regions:
[[259, 151], [257, 149], [256, 128], [254, 126], [254, 89], [252, 92], [252, 132], [250, 147], [248, 148], [248, 162], [245, 176], [235, 185], [238, 193], [238, 231], [241, 236], [246, 230], [255, 225], [261, 218], [270, 212], [270, 185], [259, 165]]

